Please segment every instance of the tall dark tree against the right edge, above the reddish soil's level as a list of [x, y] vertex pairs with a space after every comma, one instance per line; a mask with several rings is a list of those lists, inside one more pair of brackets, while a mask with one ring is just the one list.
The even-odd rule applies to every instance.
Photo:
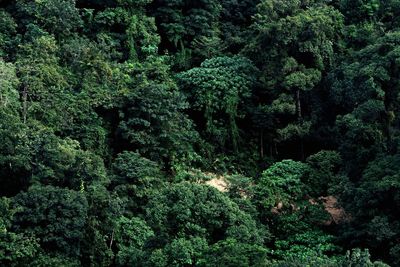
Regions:
[[[345, 136], [340, 137], [340, 150], [346, 165], [358, 169], [351, 171], [353, 178], [360, 177], [378, 152], [397, 150], [399, 41], [399, 32], [387, 33], [354, 53], [352, 62], [343, 62], [334, 73], [332, 99], [344, 114], [349, 113], [338, 118], [339, 134]], [[350, 159], [358, 164], [350, 164]]]

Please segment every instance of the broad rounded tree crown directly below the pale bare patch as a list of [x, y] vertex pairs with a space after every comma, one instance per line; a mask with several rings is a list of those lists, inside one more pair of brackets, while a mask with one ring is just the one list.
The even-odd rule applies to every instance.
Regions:
[[[214, 188], [190, 183], [171, 185], [155, 192], [146, 206], [146, 221], [155, 233], [155, 244], [161, 248], [182, 243], [198, 246], [200, 238], [208, 245], [227, 239], [261, 245], [267, 237], [267, 232], [227, 196]], [[189, 251], [190, 246], [186, 248]], [[197, 252], [188, 253], [194, 260]]]

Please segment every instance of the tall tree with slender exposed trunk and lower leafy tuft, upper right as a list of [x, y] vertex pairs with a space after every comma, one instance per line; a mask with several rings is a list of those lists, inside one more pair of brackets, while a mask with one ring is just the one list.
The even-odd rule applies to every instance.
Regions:
[[[304, 159], [303, 137], [311, 122], [304, 118], [302, 95], [321, 82], [334, 61], [335, 44], [340, 40], [343, 16], [322, 1], [261, 1], [252, 25], [253, 38], [244, 52], [262, 66], [266, 92], [260, 102], [271, 102], [290, 94], [296, 116], [285, 119], [277, 141], [299, 139], [299, 155]], [[266, 95], [269, 100], [264, 100]]]

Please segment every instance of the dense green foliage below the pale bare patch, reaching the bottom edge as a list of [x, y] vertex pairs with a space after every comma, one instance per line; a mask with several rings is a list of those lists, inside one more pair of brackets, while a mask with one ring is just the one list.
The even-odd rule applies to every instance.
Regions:
[[169, 185], [154, 192], [145, 218], [155, 234], [152, 243], [162, 248], [167, 265], [215, 266], [217, 259], [227, 264], [234, 258], [245, 263], [265, 259], [261, 244], [267, 232], [214, 188]]

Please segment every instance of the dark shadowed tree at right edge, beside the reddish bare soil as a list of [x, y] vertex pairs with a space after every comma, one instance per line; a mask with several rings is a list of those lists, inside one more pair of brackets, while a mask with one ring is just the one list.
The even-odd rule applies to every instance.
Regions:
[[344, 184], [341, 194], [353, 217], [343, 229], [343, 238], [368, 244], [371, 251], [392, 262], [398, 262], [399, 256], [395, 241], [399, 236], [399, 160], [398, 154], [380, 155], [368, 164], [359, 182]]

